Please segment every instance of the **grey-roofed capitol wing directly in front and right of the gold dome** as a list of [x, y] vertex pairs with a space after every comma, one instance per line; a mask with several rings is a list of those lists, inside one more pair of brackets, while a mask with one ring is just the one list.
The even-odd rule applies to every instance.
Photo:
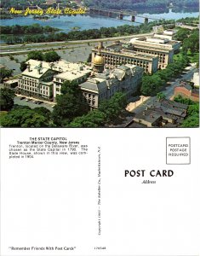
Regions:
[[98, 108], [102, 100], [110, 99], [116, 92], [123, 92], [129, 98], [138, 89], [143, 75], [143, 68], [135, 65], [122, 65], [114, 70], [94, 73], [83, 84], [83, 96], [91, 108]]

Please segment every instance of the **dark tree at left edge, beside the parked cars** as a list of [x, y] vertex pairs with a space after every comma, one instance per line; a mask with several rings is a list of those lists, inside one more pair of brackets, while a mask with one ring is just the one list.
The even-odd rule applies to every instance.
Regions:
[[0, 109], [9, 111], [14, 106], [14, 91], [9, 88], [1, 89]]

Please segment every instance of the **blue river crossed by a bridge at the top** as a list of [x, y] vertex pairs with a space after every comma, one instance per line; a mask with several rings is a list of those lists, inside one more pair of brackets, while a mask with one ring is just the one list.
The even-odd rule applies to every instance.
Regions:
[[[143, 16], [148, 16], [152, 18], [165, 20], [179, 20], [180, 18], [186, 17], [197, 17], [199, 12], [184, 12], [181, 10], [180, 12], [173, 12], [172, 9], [169, 9], [169, 12], [160, 13], [160, 14], [148, 14], [144, 13]], [[53, 26], [60, 28], [63, 32], [70, 32], [73, 27], [80, 27], [81, 30], [84, 29], [93, 29], [100, 28], [102, 26], [122, 26], [124, 24], [134, 24], [134, 26], [139, 25], [139, 23], [132, 23], [127, 20], [130, 20], [130, 17], [124, 17], [125, 20], [117, 20], [113, 18], [109, 18], [106, 16], [98, 16], [98, 15], [77, 15], [77, 16], [60, 16], [60, 17], [51, 17], [49, 20], [34, 20], [33, 16], [26, 17], [16, 17], [14, 19], [8, 20], [0, 20], [1, 26], [12, 26], [12, 25], [31, 25], [33, 23], [40, 24], [42, 26]], [[135, 21], [144, 22], [144, 18], [136, 17]], [[150, 19], [151, 21], [151, 19]]]

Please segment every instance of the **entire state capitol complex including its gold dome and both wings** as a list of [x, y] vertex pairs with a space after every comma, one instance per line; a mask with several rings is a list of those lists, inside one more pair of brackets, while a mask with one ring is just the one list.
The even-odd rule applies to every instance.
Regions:
[[119, 91], [129, 98], [138, 90], [143, 75], [143, 68], [132, 64], [106, 68], [100, 47], [94, 57], [93, 67], [65, 60], [50, 63], [29, 60], [26, 64], [26, 70], [18, 79], [17, 93], [56, 102], [62, 84], [65, 81], [76, 82], [90, 108], [98, 108], [100, 101], [110, 99]]

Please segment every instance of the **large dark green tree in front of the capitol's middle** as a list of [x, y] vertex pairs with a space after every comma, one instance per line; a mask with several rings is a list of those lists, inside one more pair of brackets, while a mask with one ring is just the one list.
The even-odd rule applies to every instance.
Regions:
[[54, 124], [66, 127], [72, 119], [89, 112], [86, 101], [77, 83], [66, 81], [61, 87], [61, 95], [56, 97], [52, 118]]

